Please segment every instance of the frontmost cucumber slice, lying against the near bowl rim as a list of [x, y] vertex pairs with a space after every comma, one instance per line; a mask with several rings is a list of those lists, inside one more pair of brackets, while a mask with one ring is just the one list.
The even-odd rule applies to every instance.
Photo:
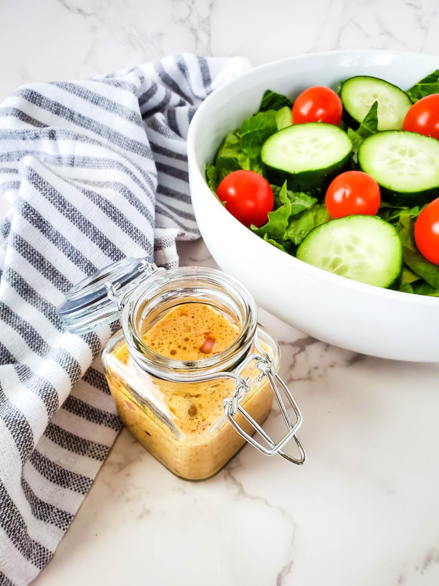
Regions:
[[347, 216], [311, 231], [297, 258], [341, 277], [389, 287], [401, 272], [402, 246], [392, 224], [376, 216]]

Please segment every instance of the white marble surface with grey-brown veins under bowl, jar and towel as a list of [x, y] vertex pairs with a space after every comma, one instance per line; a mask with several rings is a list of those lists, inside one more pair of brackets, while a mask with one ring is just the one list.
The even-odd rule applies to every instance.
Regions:
[[[181, 50], [254, 64], [338, 48], [439, 54], [435, 0], [4, 0], [0, 18], [0, 97]], [[200, 241], [181, 259], [212, 265]], [[307, 464], [246, 447], [187, 483], [123, 431], [37, 586], [439, 583], [439, 365], [356, 356], [260, 321], [281, 342]]]

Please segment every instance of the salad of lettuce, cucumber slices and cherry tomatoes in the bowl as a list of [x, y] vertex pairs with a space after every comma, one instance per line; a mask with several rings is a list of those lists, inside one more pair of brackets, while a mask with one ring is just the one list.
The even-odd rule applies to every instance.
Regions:
[[267, 90], [206, 167], [267, 243], [343, 277], [439, 297], [439, 70], [407, 91], [370, 76]]

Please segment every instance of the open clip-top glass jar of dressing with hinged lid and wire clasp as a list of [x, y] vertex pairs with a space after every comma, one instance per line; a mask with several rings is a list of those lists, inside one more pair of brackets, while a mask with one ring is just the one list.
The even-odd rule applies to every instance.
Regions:
[[[217, 353], [200, 348], [205, 357], [193, 360], [152, 347], [150, 332], [159, 331], [167, 343], [163, 332], [169, 336], [175, 330], [171, 320], [179, 328], [191, 328], [187, 324], [195, 309], [201, 314], [205, 309], [203, 315], [216, 319], [219, 327], [232, 328], [233, 341]], [[255, 301], [234, 278], [211, 268], [164, 271], [150, 258], [125, 259], [81, 281], [58, 312], [76, 333], [121, 316], [121, 329], [102, 352], [109, 389], [126, 427], [177, 476], [209, 478], [246, 441], [263, 454], [279, 454], [295, 464], [305, 461], [296, 436], [300, 411], [277, 374], [279, 345], [258, 325]], [[162, 326], [166, 320], [174, 330]], [[273, 396], [286, 426], [278, 441], [262, 428]], [[255, 432], [260, 441], [252, 437]], [[283, 451], [291, 438], [297, 457]]]

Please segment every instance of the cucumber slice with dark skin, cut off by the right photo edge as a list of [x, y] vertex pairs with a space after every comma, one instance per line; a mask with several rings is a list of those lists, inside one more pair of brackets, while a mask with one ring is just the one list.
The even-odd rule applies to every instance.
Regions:
[[439, 196], [439, 141], [416, 132], [387, 131], [366, 138], [358, 150], [362, 171], [381, 188], [382, 199], [423, 205]]

